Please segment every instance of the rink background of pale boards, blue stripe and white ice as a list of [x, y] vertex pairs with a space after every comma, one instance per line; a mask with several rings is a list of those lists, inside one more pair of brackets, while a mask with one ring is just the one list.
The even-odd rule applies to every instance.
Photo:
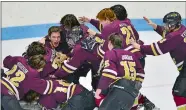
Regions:
[[[162, 4], [164, 3], [164, 4]], [[95, 17], [99, 10], [109, 7], [115, 4], [123, 4], [129, 11], [130, 18], [134, 18], [134, 26], [137, 26], [137, 30], [140, 35], [140, 39], [145, 42], [145, 44], [150, 44], [152, 42], [158, 41], [161, 39], [161, 36], [154, 32], [152, 29], [149, 29], [148, 25], [145, 24], [145, 27], [141, 29], [141, 26], [144, 26], [144, 21], [142, 16], [146, 15], [159, 23], [160, 18], [162, 18], [167, 12], [178, 11], [183, 15], [184, 25], [185, 22], [185, 4], [183, 3], [153, 3], [153, 2], [132, 2], [132, 3], [118, 3], [118, 2], [106, 2], [101, 3], [74, 3], [77, 5], [84, 6], [83, 9], [90, 9], [90, 11], [83, 11], [81, 8], [74, 6], [74, 9], [68, 11], [68, 5], [70, 3], [3, 3], [2, 5], [2, 60], [7, 55], [20, 56], [26, 50], [28, 44], [33, 41], [40, 40], [47, 33], [49, 25], [45, 26], [46, 23], [55, 23], [58, 22], [62, 15], [68, 13], [74, 13], [77, 16], [88, 16]], [[72, 3], [73, 4], [73, 3]], [[86, 5], [84, 5], [86, 4]], [[31, 6], [30, 6], [31, 5]], [[96, 5], [96, 8], [95, 6]], [[59, 7], [61, 10], [59, 11]], [[93, 7], [94, 8], [90, 8]], [[133, 7], [136, 6], [136, 9]], [[145, 7], [147, 6], [147, 7]], [[157, 10], [157, 7], [159, 6]], [[172, 8], [171, 8], [172, 6]], [[10, 7], [12, 8], [10, 10]], [[34, 7], [34, 9], [32, 8]], [[58, 7], [58, 8], [57, 8]], [[142, 9], [145, 7], [144, 9]], [[53, 11], [49, 10], [52, 9]], [[57, 8], [57, 9], [56, 9]], [[27, 9], [28, 12], [25, 12], [24, 9]], [[78, 10], [77, 10], [78, 9]], [[95, 10], [94, 10], [95, 9]], [[148, 9], [148, 10], [147, 10]], [[47, 13], [45, 13], [45, 10]], [[64, 11], [65, 10], [65, 11]], [[74, 11], [75, 10], [75, 11]], [[136, 11], [139, 12], [136, 12]], [[157, 13], [160, 12], [161, 13]], [[61, 15], [60, 15], [61, 14]], [[156, 15], [157, 14], [157, 15]], [[138, 18], [140, 22], [138, 22]], [[141, 22], [143, 21], [143, 22]], [[44, 25], [43, 28], [39, 28], [35, 24]], [[137, 25], [136, 25], [137, 24]], [[53, 25], [53, 24], [50, 24]], [[19, 26], [25, 26], [21, 28]], [[89, 25], [90, 26], [90, 25]], [[36, 27], [36, 29], [34, 29]], [[90, 26], [91, 27], [91, 26]], [[148, 27], [148, 28], [146, 28]], [[21, 29], [20, 29], [21, 28]], [[29, 32], [25, 32], [29, 28]], [[92, 29], [95, 29], [91, 27]], [[23, 29], [23, 30], [22, 30]], [[39, 32], [38, 32], [39, 31]], [[45, 32], [43, 32], [45, 31]], [[35, 32], [37, 32], [35, 34]], [[143, 87], [141, 89], [142, 94], [146, 95], [160, 110], [176, 110], [176, 106], [172, 97], [172, 87], [174, 81], [178, 75], [176, 66], [174, 65], [169, 53], [161, 56], [147, 56], [146, 65], [145, 65], [145, 80]], [[87, 77], [82, 77], [80, 83], [91, 90], [91, 74], [89, 72]]]

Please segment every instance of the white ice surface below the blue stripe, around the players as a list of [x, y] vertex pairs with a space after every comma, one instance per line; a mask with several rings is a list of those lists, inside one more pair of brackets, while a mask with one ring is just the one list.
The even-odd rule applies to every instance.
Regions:
[[[161, 39], [161, 37], [153, 31], [141, 31], [139, 34], [145, 44], [150, 44]], [[29, 43], [40, 38], [41, 37], [2, 41], [2, 59], [7, 55], [21, 55]], [[146, 76], [141, 92], [161, 110], [176, 110], [171, 89], [178, 72], [170, 55], [147, 56], [145, 72]], [[90, 90], [91, 75], [88, 74], [86, 78], [82, 77], [80, 83]]]

